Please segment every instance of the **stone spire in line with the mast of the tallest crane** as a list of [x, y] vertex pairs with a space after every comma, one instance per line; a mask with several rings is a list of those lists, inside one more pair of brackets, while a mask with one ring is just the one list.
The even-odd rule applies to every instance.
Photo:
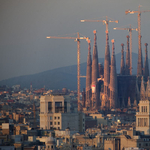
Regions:
[[143, 75], [143, 59], [142, 59], [142, 48], [139, 48], [138, 51], [138, 64], [137, 64], [137, 75]]

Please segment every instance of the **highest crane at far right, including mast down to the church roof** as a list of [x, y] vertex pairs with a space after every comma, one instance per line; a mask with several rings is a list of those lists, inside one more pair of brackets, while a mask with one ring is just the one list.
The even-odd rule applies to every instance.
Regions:
[[[142, 75], [142, 69], [143, 69], [143, 66], [142, 66], [142, 50], [141, 50], [141, 13], [143, 12], [150, 12], [150, 10], [144, 10], [144, 11], [141, 11], [140, 10], [140, 5], [138, 7], [138, 10], [137, 11], [130, 11], [130, 10], [126, 10], [125, 11], [125, 14], [134, 14], [134, 13], [138, 13], [138, 69], [137, 69], [137, 75]], [[139, 62], [140, 61], [140, 62]], [[141, 66], [140, 66], [141, 64]]]

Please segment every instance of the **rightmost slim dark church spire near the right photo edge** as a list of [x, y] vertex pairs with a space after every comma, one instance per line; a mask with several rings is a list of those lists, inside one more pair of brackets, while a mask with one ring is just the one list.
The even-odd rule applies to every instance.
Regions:
[[146, 81], [147, 81], [148, 76], [149, 76], [147, 45], [148, 44], [145, 43], [145, 62], [144, 62], [144, 71], [143, 71], [143, 75], [144, 75], [144, 78]]

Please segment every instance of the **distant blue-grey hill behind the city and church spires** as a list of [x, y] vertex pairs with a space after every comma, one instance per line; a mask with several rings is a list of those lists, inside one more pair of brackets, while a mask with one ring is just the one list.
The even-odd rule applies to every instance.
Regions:
[[[136, 74], [138, 55], [136, 53], [133, 53], [132, 58], [133, 58], [132, 61], [133, 74]], [[120, 72], [120, 61], [121, 61], [121, 53], [118, 53], [116, 54], [117, 73]], [[99, 58], [99, 62], [104, 64], [104, 58]], [[81, 75], [86, 75], [86, 62], [81, 64]], [[29, 88], [31, 82], [33, 88], [42, 88], [45, 85], [47, 89], [62, 89], [63, 87], [66, 87], [67, 89], [70, 90], [76, 90], [77, 66], [73, 65], [68, 67], [61, 67], [33, 75], [14, 77], [0, 81], [0, 85], [12, 86], [20, 84], [21, 87]], [[81, 78], [81, 89], [83, 88], [85, 88], [85, 78]]]

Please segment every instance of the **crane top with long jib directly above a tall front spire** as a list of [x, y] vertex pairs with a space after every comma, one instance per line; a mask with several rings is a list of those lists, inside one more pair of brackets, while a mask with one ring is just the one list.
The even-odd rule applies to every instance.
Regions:
[[106, 24], [106, 32], [108, 33], [109, 22], [118, 23], [118, 20], [108, 20], [108, 17], [106, 16], [106, 20], [80, 20], [80, 22], [103, 22], [103, 24]]

